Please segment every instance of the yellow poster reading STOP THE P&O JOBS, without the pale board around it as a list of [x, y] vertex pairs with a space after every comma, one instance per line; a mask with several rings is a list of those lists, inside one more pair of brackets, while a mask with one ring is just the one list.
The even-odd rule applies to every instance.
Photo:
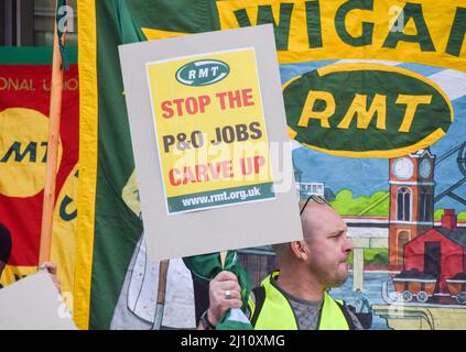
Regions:
[[147, 70], [169, 213], [274, 198], [253, 48]]

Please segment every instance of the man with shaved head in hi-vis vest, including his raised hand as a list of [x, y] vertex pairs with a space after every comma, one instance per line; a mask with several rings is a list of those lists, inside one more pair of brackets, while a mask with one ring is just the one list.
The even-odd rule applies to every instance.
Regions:
[[[358, 330], [357, 317], [327, 290], [348, 277], [353, 244], [338, 213], [321, 197], [301, 205], [303, 240], [274, 245], [280, 271], [265, 277], [249, 300], [249, 319], [256, 330]], [[230, 272], [219, 273], [209, 289], [205, 314], [215, 327], [229, 308], [241, 307], [240, 287]]]

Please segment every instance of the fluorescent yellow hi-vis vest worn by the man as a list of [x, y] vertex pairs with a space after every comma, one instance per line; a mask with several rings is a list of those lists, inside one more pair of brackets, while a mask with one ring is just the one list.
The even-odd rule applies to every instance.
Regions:
[[[289, 300], [270, 282], [278, 275], [278, 271], [273, 272], [262, 280], [263, 297], [256, 295], [256, 302], [249, 299], [250, 319], [254, 330], [297, 330], [297, 320]], [[325, 293], [318, 330], [354, 329], [351, 318], [344, 309], [346, 308], [343, 305]]]

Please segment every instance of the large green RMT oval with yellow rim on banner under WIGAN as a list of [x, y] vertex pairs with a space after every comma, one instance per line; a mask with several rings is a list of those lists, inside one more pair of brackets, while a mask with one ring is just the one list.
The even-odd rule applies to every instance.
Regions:
[[438, 86], [379, 64], [329, 65], [293, 78], [283, 96], [290, 136], [334, 155], [407, 155], [438, 141], [453, 122]]

